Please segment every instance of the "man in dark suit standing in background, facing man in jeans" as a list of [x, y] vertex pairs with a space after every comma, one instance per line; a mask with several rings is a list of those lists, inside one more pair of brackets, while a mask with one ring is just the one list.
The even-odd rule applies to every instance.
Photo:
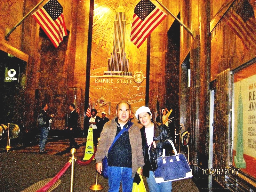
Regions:
[[67, 129], [69, 135], [69, 148], [77, 148], [77, 143], [75, 141], [75, 133], [77, 131], [77, 120], [78, 113], [76, 112], [75, 105], [70, 104], [69, 110], [71, 113], [68, 116]]

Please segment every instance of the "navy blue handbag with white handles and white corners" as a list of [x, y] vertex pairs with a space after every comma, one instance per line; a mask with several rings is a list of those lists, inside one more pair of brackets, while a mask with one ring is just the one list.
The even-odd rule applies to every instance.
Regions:
[[172, 141], [168, 141], [172, 144], [175, 155], [165, 156], [165, 149], [163, 149], [163, 156], [157, 157], [158, 167], [154, 172], [156, 183], [176, 181], [193, 176], [186, 157], [183, 154], [178, 154]]

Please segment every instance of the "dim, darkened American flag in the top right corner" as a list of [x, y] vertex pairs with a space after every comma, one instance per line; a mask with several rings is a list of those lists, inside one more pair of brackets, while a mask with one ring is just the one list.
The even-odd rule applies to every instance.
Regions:
[[256, 21], [252, 5], [247, 1], [240, 1], [237, 7], [230, 9], [228, 26], [241, 39], [245, 48], [249, 50], [250, 47], [256, 45]]

